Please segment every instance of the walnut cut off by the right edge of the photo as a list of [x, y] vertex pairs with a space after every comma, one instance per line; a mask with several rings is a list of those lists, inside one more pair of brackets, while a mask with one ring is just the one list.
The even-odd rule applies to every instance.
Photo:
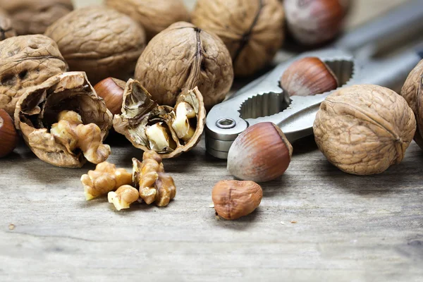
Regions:
[[417, 130], [415, 142], [423, 149], [423, 60], [408, 75], [407, 80], [401, 90], [401, 95], [407, 101], [408, 105], [415, 113], [417, 119]]

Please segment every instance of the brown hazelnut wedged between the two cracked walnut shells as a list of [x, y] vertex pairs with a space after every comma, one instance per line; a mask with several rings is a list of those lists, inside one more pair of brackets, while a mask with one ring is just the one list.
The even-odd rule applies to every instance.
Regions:
[[95, 92], [104, 99], [107, 109], [111, 114], [121, 114], [123, 102], [123, 90], [125, 90], [126, 82], [117, 78], [106, 78], [98, 82], [94, 86]]

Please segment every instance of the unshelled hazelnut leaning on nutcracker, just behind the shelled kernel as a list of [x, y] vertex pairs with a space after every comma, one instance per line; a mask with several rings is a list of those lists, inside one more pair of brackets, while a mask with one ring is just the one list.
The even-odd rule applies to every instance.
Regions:
[[285, 173], [293, 147], [274, 123], [257, 123], [233, 142], [228, 152], [228, 170], [241, 180], [266, 182]]

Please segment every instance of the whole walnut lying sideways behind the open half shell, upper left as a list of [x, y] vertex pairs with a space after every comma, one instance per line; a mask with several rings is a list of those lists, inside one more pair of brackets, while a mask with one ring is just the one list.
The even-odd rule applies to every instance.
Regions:
[[127, 80], [145, 47], [145, 32], [111, 8], [80, 8], [51, 25], [45, 35], [58, 45], [71, 71], [85, 71], [92, 84], [104, 78]]

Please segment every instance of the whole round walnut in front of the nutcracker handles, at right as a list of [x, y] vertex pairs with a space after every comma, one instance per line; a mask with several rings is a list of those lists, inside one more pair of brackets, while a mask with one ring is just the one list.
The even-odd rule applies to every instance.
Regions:
[[382, 173], [403, 160], [416, 121], [405, 99], [388, 88], [354, 85], [321, 104], [314, 136], [326, 158], [347, 173]]

